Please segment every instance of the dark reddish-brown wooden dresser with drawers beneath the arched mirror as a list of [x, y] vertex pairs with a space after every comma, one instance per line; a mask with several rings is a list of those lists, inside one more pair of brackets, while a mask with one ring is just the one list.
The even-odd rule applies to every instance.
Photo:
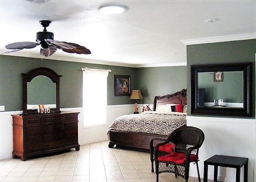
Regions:
[[78, 114], [54, 113], [12, 115], [13, 158], [48, 154], [75, 148], [78, 144]]

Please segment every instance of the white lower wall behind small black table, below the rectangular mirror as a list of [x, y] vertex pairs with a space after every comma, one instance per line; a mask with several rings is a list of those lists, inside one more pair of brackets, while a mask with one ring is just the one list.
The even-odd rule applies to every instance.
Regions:
[[[205, 140], [199, 150], [200, 176], [204, 174], [204, 160], [215, 154], [249, 158], [248, 182], [255, 182], [256, 122], [255, 119], [187, 116], [187, 125], [202, 129]], [[208, 167], [208, 180], [213, 180], [213, 166]], [[241, 182], [244, 181], [241, 168]], [[190, 175], [197, 176], [196, 166], [190, 166]], [[218, 169], [218, 181], [236, 181], [234, 168]]]

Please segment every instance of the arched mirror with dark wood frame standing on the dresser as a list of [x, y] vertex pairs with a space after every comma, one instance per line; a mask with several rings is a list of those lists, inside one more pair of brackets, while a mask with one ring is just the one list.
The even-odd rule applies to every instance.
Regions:
[[39, 67], [23, 76], [23, 113], [38, 113], [38, 105], [60, 113], [60, 77], [52, 69]]

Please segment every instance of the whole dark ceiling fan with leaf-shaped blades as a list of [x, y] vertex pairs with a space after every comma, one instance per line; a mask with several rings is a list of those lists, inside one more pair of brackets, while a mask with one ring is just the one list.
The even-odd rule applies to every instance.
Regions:
[[12, 49], [4, 53], [16, 52], [22, 49], [31, 49], [37, 45], [41, 45], [40, 54], [48, 57], [55, 53], [58, 49], [62, 49], [64, 52], [77, 53], [77, 54], [90, 54], [91, 51], [86, 49], [86, 47], [70, 42], [60, 42], [54, 40], [54, 34], [52, 32], [47, 32], [46, 27], [48, 27], [51, 21], [41, 20], [40, 24], [44, 27], [43, 32], [36, 33], [36, 42], [14, 42], [6, 45], [6, 49]]

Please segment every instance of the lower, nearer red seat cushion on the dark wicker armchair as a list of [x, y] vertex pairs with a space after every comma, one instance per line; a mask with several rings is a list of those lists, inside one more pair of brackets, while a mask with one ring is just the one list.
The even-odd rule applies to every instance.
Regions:
[[[174, 162], [176, 164], [184, 164], [185, 163], [185, 153], [172, 152], [171, 154], [159, 156], [158, 160]], [[198, 160], [197, 155], [190, 155], [190, 162], [194, 162]]]

